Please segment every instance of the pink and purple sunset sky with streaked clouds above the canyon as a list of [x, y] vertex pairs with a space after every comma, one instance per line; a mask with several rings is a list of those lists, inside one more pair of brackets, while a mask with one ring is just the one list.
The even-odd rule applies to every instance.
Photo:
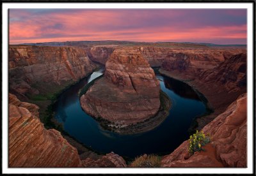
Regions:
[[246, 20], [246, 9], [10, 9], [9, 40], [246, 44]]

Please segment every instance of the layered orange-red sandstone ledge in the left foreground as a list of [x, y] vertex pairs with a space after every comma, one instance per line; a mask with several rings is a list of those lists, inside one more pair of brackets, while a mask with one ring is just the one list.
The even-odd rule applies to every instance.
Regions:
[[[9, 94], [9, 167], [126, 167], [113, 152], [81, 161], [77, 149], [59, 131], [45, 129], [38, 106]], [[104, 162], [103, 162], [104, 161]]]

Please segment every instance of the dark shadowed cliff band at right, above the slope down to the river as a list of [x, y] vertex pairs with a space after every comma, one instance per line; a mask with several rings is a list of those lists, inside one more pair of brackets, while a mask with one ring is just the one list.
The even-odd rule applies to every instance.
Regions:
[[236, 92], [246, 86], [246, 54], [236, 54], [225, 59], [212, 69], [191, 68], [185, 57], [182, 59], [168, 59], [162, 68], [166, 71], [180, 72], [186, 78], [191, 78], [204, 84], [223, 85], [228, 92]]

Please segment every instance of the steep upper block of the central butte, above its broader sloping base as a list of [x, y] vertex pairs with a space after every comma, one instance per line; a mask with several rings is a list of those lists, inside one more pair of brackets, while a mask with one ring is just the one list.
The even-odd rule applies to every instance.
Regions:
[[159, 96], [154, 70], [134, 48], [116, 49], [106, 63], [105, 75], [124, 91]]

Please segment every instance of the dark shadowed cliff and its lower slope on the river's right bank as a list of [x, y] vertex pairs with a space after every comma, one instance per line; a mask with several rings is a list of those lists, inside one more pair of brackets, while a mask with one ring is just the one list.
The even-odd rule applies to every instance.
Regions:
[[[214, 113], [196, 119], [198, 129], [202, 129], [217, 115], [224, 112], [239, 95], [246, 92], [246, 57], [244, 53], [232, 55], [212, 69], [193, 68], [186, 66], [185, 60], [166, 59], [160, 72], [184, 80], [207, 98]], [[179, 65], [177, 64], [179, 62], [183, 66], [173, 68], [173, 65]]]

